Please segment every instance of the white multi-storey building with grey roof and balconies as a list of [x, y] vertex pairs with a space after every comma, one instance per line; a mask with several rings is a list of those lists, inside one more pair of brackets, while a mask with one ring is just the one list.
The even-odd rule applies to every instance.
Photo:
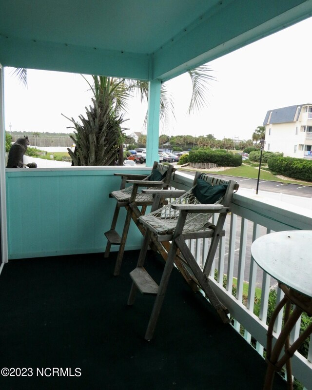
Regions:
[[312, 159], [312, 104], [269, 110], [264, 119], [265, 150]]

